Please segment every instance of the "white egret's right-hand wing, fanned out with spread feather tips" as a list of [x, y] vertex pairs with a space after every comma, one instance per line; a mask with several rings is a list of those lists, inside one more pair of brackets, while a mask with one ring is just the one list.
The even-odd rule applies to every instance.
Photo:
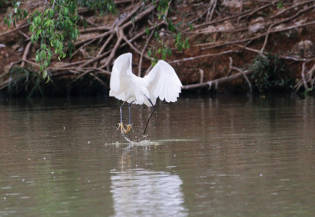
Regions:
[[[157, 97], [167, 102], [177, 101], [181, 87], [183, 86], [171, 65], [163, 60], [159, 60], [157, 64], [145, 77], [149, 86], [150, 99], [155, 105]], [[151, 106], [151, 103], [145, 99], [145, 104]]]

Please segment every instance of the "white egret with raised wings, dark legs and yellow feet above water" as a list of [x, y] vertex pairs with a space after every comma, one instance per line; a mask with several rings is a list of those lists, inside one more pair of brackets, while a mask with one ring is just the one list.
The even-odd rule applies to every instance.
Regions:
[[125, 102], [129, 103], [129, 124], [126, 126], [127, 129], [123, 127], [123, 104], [120, 107], [120, 123], [118, 123], [117, 130], [120, 128], [121, 133], [123, 131], [128, 133], [131, 129], [130, 106], [132, 103], [139, 105], [146, 104], [148, 107], [152, 106], [154, 112], [157, 97], [160, 100], [165, 99], [167, 102], [175, 102], [183, 86], [173, 67], [163, 60], [159, 60], [144, 77], [137, 77], [132, 73], [131, 62], [131, 53], [122, 54], [117, 57], [114, 61], [109, 84], [111, 88], [109, 96], [123, 100], [123, 104]]

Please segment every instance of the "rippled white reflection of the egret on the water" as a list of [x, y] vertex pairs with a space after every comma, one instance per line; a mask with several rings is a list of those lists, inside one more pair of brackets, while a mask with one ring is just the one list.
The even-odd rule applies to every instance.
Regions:
[[182, 180], [163, 171], [111, 171], [115, 216], [188, 216]]

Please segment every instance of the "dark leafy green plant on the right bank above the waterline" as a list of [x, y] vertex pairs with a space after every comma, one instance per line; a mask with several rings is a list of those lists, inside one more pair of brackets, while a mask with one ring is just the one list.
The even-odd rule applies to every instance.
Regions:
[[249, 80], [253, 84], [253, 89], [260, 94], [274, 88], [292, 89], [289, 79], [291, 70], [277, 58], [277, 55], [257, 56], [249, 68], [255, 70]]

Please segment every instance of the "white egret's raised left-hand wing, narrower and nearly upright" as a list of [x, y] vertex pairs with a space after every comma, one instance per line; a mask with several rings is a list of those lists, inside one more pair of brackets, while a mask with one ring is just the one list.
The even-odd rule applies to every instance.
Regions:
[[[135, 76], [131, 70], [132, 54], [122, 54], [114, 61], [111, 79], [109, 82], [109, 96], [126, 101], [129, 97], [128, 89], [131, 77]], [[132, 101], [132, 100], [131, 100]]]

